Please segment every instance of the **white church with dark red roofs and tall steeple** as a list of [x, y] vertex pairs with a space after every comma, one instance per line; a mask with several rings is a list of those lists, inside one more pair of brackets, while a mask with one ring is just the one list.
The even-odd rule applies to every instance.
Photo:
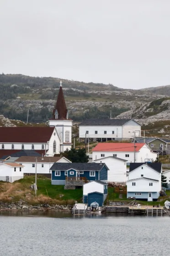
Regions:
[[0, 159], [21, 150], [54, 156], [71, 149], [72, 120], [65, 104], [62, 82], [49, 127], [0, 127]]

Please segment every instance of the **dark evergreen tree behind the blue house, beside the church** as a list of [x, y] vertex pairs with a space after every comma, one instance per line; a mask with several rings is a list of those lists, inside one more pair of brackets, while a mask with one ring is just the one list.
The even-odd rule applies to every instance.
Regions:
[[67, 149], [61, 152], [61, 156], [64, 156], [73, 163], [87, 163], [89, 161], [89, 156], [86, 155], [85, 149]]

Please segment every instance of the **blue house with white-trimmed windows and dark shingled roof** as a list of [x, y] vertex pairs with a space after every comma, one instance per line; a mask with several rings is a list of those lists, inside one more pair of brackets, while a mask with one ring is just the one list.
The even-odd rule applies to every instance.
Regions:
[[54, 163], [52, 185], [83, 186], [88, 181], [107, 182], [108, 167], [105, 163]]

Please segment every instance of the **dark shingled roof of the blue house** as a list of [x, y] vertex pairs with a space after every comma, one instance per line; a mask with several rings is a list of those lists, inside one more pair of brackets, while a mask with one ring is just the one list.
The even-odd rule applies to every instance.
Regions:
[[[67, 171], [100, 171], [105, 163], [54, 163], [50, 170]], [[106, 167], [108, 169], [108, 167]]]

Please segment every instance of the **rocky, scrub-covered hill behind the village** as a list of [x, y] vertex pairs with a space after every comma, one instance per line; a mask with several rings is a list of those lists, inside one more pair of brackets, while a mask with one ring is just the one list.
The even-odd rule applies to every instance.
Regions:
[[[29, 122], [46, 122], [51, 117], [60, 80], [51, 77], [0, 74], [0, 114], [26, 122], [29, 109]], [[121, 114], [121, 118], [127, 118], [132, 111], [132, 117], [137, 119], [154, 118], [156, 115], [159, 118], [162, 111], [167, 111], [167, 102], [164, 102], [165, 97], [169, 95], [168, 86], [164, 89], [157, 87], [133, 90], [121, 89], [112, 84], [84, 83], [66, 79], [62, 79], [62, 82], [69, 116], [74, 121], [110, 117], [110, 111], [112, 117]], [[160, 106], [159, 102], [158, 105], [152, 106], [152, 102], [157, 102], [158, 99], [162, 100]]]

